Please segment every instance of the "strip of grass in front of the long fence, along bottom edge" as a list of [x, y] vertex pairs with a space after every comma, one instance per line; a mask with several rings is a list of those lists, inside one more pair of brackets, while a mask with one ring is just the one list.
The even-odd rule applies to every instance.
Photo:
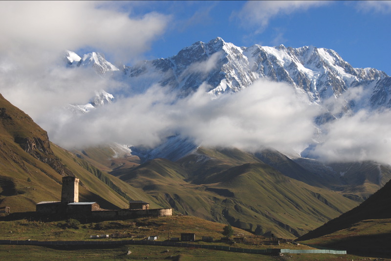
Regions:
[[[167, 252], [168, 250], [168, 252]], [[130, 251], [130, 255], [126, 253]], [[121, 255], [122, 254], [122, 255]], [[20, 245], [0, 245], [0, 260], [28, 261], [80, 261], [80, 260], [137, 260], [137, 261], [358, 261], [374, 260], [352, 255], [332, 254], [285, 254], [283, 256], [266, 256], [246, 253], [232, 253], [208, 249], [191, 249], [162, 246], [133, 246], [124, 245], [112, 248], [83, 248], [76, 247], [39, 247]], [[387, 260], [388, 259], [377, 259]]]

